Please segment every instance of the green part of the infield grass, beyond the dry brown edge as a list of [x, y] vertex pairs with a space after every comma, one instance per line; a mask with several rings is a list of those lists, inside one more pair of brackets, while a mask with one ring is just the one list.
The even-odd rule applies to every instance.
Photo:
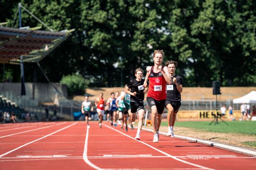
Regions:
[[[188, 127], [199, 129], [208, 132], [217, 132], [217, 133], [241, 133], [247, 135], [256, 135], [256, 122], [254, 121], [233, 121], [227, 122], [226, 125], [224, 122], [219, 121], [218, 124], [209, 125], [208, 122], [175, 122], [175, 126], [177, 127]], [[167, 122], [162, 122], [162, 126], [168, 126]]]

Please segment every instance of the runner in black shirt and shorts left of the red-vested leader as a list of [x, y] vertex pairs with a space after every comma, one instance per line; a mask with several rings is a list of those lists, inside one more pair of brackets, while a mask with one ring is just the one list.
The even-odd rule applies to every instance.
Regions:
[[135, 139], [140, 140], [140, 130], [143, 125], [143, 118], [144, 118], [144, 94], [146, 93], [145, 88], [143, 87], [144, 79], [143, 77], [143, 69], [137, 68], [135, 70], [135, 77], [136, 79], [132, 79], [130, 82], [127, 83], [125, 86], [125, 93], [131, 95], [130, 105], [131, 105], [131, 121], [134, 122], [136, 118], [136, 113], [138, 112], [139, 115], [139, 122], [138, 122], [138, 130], [135, 136]]

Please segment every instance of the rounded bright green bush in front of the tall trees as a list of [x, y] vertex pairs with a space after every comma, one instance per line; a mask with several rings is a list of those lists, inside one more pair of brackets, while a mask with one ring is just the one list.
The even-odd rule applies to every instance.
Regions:
[[81, 74], [63, 76], [61, 83], [67, 85], [69, 96], [78, 94], [83, 95], [88, 87], [89, 81], [84, 79]]

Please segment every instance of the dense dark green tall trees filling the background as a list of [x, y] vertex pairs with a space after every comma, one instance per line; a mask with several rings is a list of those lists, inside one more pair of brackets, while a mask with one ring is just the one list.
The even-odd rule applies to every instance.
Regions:
[[[17, 1], [1, 0], [0, 22], [18, 27]], [[256, 85], [254, 0], [21, 0], [55, 31], [76, 31], [41, 61], [53, 82], [80, 73], [90, 86], [120, 86], [152, 65], [154, 49], [177, 61], [185, 86]], [[4, 4], [4, 5], [2, 5]], [[8, 7], [8, 8], [7, 8]], [[41, 26], [22, 13], [23, 26]], [[46, 28], [44, 28], [46, 29]], [[13, 69], [17, 70], [15, 66]], [[26, 81], [39, 69], [25, 65]], [[37, 74], [33, 74], [37, 73]], [[34, 76], [33, 76], [34, 75]], [[15, 76], [14, 76], [15, 78]]]

